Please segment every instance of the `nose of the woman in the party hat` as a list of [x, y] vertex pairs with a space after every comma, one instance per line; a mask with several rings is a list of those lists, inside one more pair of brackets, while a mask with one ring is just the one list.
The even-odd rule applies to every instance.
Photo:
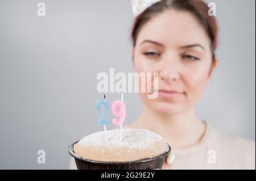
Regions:
[[159, 71], [159, 78], [170, 83], [180, 78], [179, 65], [175, 60], [163, 60], [162, 68]]

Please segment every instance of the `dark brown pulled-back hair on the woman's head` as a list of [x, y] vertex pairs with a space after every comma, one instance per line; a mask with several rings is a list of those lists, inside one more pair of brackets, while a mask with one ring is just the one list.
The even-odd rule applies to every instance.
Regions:
[[137, 16], [135, 19], [133, 30], [131, 32], [133, 45], [135, 46], [139, 31], [141, 31], [143, 25], [146, 24], [156, 14], [159, 14], [160, 12], [168, 9], [188, 11], [197, 18], [209, 36], [212, 44], [212, 58], [214, 59], [214, 52], [217, 48], [217, 20], [214, 16], [208, 15], [209, 7], [203, 0], [162, 0], [148, 7], [148, 9], [142, 12], [142, 14]]

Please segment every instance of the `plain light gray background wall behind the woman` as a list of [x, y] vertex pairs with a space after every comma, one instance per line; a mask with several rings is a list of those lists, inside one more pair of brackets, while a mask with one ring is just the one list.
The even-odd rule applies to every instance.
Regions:
[[[68, 169], [68, 145], [103, 129], [97, 74], [133, 72], [130, 1], [42, 0], [46, 17], [38, 2], [0, 0], [0, 169]], [[220, 63], [197, 115], [255, 140], [255, 1], [208, 2], [217, 5]], [[107, 94], [110, 103], [120, 97]], [[141, 100], [124, 101], [130, 123]], [[40, 149], [46, 164], [37, 163]]]

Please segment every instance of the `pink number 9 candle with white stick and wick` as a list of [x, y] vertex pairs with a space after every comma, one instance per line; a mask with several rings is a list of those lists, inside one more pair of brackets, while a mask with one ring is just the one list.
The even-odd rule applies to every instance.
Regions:
[[[118, 110], [118, 108], [120, 109]], [[115, 102], [113, 102], [112, 112], [113, 112], [113, 115], [119, 117], [119, 120], [114, 118], [112, 120], [112, 123], [120, 127], [120, 140], [122, 141], [122, 125], [123, 125], [123, 122], [125, 122], [125, 116], [126, 116], [126, 107], [125, 107], [125, 103], [123, 103], [123, 94], [122, 94], [122, 100], [115, 100]]]

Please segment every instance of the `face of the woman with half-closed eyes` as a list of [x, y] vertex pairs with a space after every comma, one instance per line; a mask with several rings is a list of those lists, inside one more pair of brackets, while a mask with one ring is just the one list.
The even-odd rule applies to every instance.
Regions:
[[144, 24], [133, 58], [135, 72], [158, 73], [158, 90], [154, 90], [158, 97], [148, 99], [148, 92], [140, 92], [144, 104], [172, 115], [196, 105], [217, 63], [212, 66], [204, 28], [189, 12], [176, 10], [164, 11]]

